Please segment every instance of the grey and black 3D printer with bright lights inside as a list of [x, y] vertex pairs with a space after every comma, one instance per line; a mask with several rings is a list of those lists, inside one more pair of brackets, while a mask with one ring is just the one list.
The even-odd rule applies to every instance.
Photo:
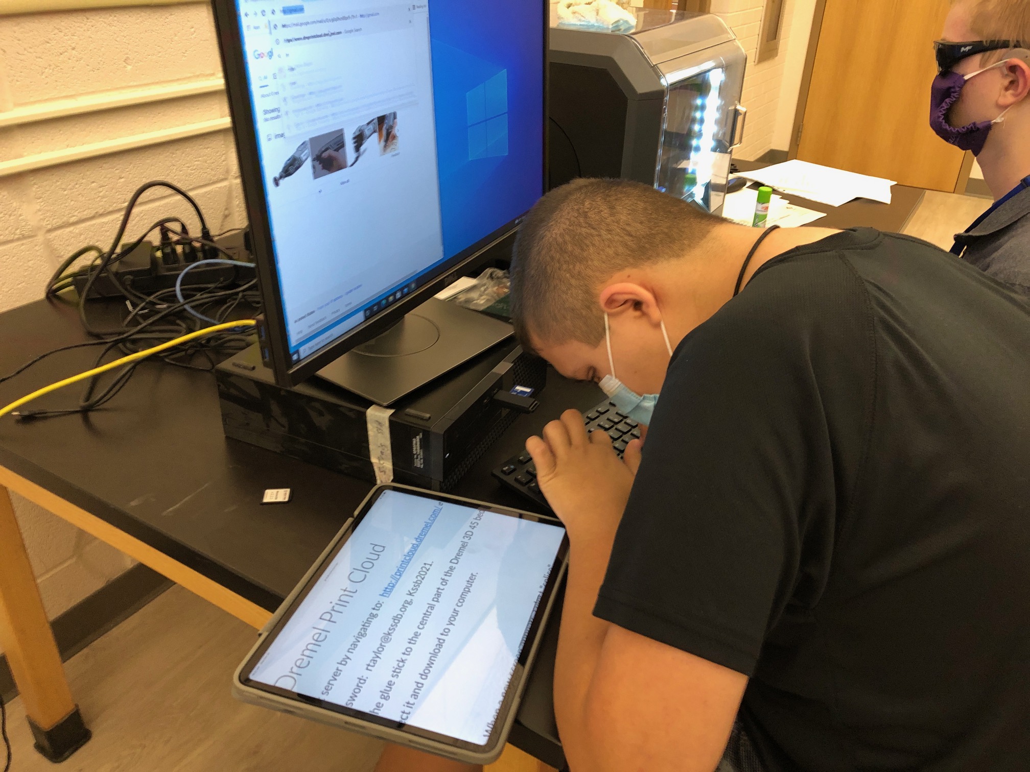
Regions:
[[621, 177], [719, 213], [744, 132], [747, 55], [718, 16], [631, 10], [627, 34], [552, 16], [550, 186]]

